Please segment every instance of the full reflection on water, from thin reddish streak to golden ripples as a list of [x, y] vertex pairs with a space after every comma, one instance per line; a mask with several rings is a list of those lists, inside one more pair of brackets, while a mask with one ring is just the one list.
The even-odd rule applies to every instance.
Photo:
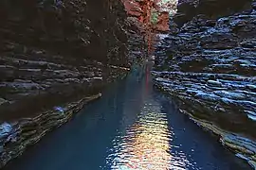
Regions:
[[[147, 98], [147, 100], [142, 100], [143, 103], [140, 105], [134, 124], [127, 127], [125, 131], [120, 130], [119, 135], [113, 140], [113, 148], [110, 149], [106, 159], [110, 169], [182, 170], [186, 169], [186, 163], [189, 163], [184, 153], [178, 153], [178, 157], [171, 154], [174, 132], [169, 128], [167, 114], [161, 111], [160, 103], [151, 96], [152, 93], [147, 93], [150, 81], [148, 70], [146, 66], [144, 82], [141, 83], [144, 86], [142, 89], [146, 92], [140, 91], [141, 95], [147, 95], [140, 98]], [[129, 105], [124, 108], [132, 107]], [[123, 117], [125, 114], [124, 112]], [[131, 116], [131, 114], [128, 115]], [[122, 120], [125, 122], [126, 118]]]

